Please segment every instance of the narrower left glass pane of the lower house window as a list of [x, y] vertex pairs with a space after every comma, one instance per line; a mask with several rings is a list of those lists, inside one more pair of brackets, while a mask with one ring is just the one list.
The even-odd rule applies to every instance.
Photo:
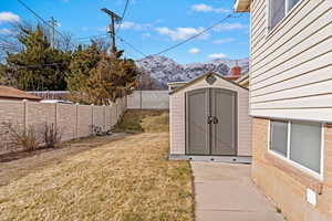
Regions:
[[273, 120], [270, 130], [270, 149], [287, 157], [288, 123]]

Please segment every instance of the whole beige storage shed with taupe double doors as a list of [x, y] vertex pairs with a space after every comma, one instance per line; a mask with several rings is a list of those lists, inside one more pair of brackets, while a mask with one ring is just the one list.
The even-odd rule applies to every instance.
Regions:
[[172, 159], [251, 161], [247, 88], [215, 73], [170, 88]]

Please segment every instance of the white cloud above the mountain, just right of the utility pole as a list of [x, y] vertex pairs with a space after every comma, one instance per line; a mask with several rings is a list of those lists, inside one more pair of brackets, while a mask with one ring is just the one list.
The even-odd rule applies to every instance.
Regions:
[[[156, 31], [162, 35], [168, 35], [173, 41], [186, 40], [195, 34], [201, 32], [204, 28], [188, 28], [188, 27], [180, 27], [175, 30], [168, 28], [157, 28]], [[201, 34], [198, 39], [205, 40], [209, 35], [207, 33]]]

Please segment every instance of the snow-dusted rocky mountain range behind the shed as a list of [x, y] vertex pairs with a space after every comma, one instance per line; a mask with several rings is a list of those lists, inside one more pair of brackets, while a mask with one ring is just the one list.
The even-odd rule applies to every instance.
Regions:
[[[242, 73], [248, 72], [248, 59], [238, 60]], [[167, 88], [169, 82], [186, 82], [196, 78], [207, 72], [216, 72], [221, 75], [228, 75], [235, 60], [214, 60], [206, 63], [179, 64], [166, 56], [147, 56], [137, 60], [136, 64], [141, 71], [149, 75], [160, 88]]]

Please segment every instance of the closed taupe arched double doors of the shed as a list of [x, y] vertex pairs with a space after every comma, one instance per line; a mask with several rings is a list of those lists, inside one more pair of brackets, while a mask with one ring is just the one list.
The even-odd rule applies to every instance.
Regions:
[[199, 88], [186, 93], [186, 155], [237, 155], [237, 93]]

